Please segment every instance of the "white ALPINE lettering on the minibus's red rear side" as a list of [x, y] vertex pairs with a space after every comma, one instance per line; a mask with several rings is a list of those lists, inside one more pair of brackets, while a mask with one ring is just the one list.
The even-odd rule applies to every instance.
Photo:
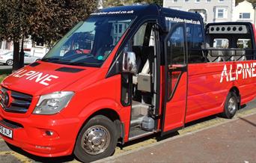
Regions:
[[[222, 70], [222, 75], [220, 82], [232, 82], [238, 79], [247, 79], [247, 78], [255, 78], [256, 77], [256, 63], [252, 64], [237, 64], [237, 67], [233, 67], [234, 65], [224, 66]], [[228, 70], [229, 68], [229, 70]]]

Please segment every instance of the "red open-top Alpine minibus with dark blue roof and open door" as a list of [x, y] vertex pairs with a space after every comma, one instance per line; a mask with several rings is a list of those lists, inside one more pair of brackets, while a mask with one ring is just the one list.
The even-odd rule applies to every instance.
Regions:
[[1, 82], [0, 133], [36, 156], [111, 156], [120, 142], [255, 98], [255, 27], [206, 25], [155, 4], [111, 7], [79, 22], [41, 60]]

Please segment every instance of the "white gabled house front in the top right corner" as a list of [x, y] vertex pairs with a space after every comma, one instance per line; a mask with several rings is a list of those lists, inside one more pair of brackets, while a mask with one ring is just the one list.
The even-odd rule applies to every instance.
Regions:
[[242, 1], [234, 7], [234, 22], [255, 23], [255, 9], [249, 1]]

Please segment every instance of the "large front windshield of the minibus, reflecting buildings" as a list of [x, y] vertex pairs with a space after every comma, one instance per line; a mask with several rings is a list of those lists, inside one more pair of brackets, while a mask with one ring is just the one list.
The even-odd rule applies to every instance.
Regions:
[[42, 61], [100, 67], [132, 22], [130, 17], [92, 16], [79, 22]]

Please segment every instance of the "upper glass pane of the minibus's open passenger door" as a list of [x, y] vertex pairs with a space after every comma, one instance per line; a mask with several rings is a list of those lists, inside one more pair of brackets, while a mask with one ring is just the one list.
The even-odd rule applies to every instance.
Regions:
[[184, 29], [178, 27], [168, 38], [167, 42], [168, 64], [186, 64]]

